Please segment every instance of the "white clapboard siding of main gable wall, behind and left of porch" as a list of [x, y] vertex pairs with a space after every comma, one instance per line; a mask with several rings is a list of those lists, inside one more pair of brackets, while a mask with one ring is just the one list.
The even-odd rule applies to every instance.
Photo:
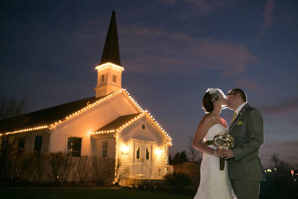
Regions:
[[57, 125], [53, 132], [51, 152], [66, 151], [67, 137], [81, 137], [81, 155], [93, 156], [90, 132], [105, 126], [116, 118], [138, 113], [129, 97], [124, 93], [114, 95], [110, 99], [89, 108]]

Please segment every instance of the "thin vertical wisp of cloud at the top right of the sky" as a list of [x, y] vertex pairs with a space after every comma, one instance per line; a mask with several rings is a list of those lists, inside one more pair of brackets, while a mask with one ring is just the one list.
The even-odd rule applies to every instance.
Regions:
[[264, 31], [272, 25], [273, 22], [273, 10], [274, 10], [274, 1], [267, 0], [264, 6], [264, 23], [261, 26], [257, 36], [255, 37], [254, 41], [258, 41], [260, 37], [263, 35]]

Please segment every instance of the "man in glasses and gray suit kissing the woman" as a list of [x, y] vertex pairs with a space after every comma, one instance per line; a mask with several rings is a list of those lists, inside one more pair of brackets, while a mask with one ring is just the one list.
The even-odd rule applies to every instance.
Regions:
[[229, 177], [238, 199], [258, 199], [260, 180], [265, 180], [259, 157], [264, 143], [264, 121], [260, 111], [247, 104], [241, 89], [228, 92], [227, 104], [235, 111], [229, 129], [235, 145], [232, 149], [218, 150], [217, 155], [228, 159]]

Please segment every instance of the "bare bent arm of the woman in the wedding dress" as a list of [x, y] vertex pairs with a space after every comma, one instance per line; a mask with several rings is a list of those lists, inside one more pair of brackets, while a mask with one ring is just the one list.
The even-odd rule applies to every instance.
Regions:
[[205, 115], [196, 128], [196, 133], [192, 140], [193, 148], [209, 155], [214, 155], [214, 149], [206, 146], [202, 143], [202, 140], [213, 123], [213, 119], [209, 115]]

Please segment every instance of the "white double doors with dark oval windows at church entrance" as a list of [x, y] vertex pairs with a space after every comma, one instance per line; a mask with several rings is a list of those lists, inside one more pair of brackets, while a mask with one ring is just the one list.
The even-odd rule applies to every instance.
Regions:
[[151, 155], [152, 146], [146, 142], [134, 142], [133, 150], [133, 165], [132, 173], [133, 176], [140, 178], [148, 178], [151, 174]]

